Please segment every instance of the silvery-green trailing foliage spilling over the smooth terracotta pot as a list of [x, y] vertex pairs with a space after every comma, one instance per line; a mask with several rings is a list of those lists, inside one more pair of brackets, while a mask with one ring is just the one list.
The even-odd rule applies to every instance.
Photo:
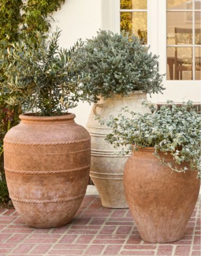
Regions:
[[[154, 147], [158, 152], [173, 156], [174, 162], [161, 162], [176, 172], [185, 172], [188, 168], [177, 169], [175, 163], [189, 162], [191, 170], [197, 170], [200, 177], [200, 115], [196, 113], [192, 102], [176, 105], [168, 102], [153, 114], [135, 113], [127, 108], [125, 112], [131, 114], [126, 118], [120, 113], [118, 118], [111, 117], [107, 125], [113, 128], [113, 133], [106, 140], [115, 147], [129, 145], [129, 150], [138, 150], [138, 147]], [[103, 123], [105, 121], [102, 121]], [[124, 154], [124, 152], [122, 152]], [[160, 157], [159, 157], [160, 158]]]

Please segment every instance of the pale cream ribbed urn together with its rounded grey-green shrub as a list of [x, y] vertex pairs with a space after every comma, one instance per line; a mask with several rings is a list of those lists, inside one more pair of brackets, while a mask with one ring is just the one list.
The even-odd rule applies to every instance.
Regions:
[[116, 150], [105, 142], [111, 132], [101, 126], [94, 115], [101, 119], [110, 114], [116, 116], [122, 107], [145, 113], [149, 108], [147, 93], [163, 90], [162, 76], [157, 71], [156, 55], [135, 36], [99, 31], [97, 36], [86, 41], [76, 52], [81, 70], [88, 73], [89, 80], [83, 90], [93, 101], [87, 130], [92, 138], [92, 178], [102, 205], [110, 208], [126, 208], [123, 191], [123, 170], [129, 155], [118, 156]]

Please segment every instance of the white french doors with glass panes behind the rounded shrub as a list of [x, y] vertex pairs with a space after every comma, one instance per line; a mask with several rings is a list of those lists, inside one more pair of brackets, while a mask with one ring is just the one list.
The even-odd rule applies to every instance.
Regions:
[[115, 10], [115, 32], [133, 32], [159, 55], [166, 90], [152, 101], [200, 102], [201, 0], [115, 0]]

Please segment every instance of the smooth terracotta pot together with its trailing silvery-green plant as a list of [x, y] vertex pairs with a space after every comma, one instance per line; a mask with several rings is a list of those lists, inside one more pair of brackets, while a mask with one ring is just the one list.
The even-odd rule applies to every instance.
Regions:
[[133, 150], [124, 170], [129, 208], [143, 240], [177, 241], [199, 193], [200, 116], [190, 101], [168, 102], [153, 114], [129, 112], [131, 118], [108, 121], [113, 133], [107, 136]]

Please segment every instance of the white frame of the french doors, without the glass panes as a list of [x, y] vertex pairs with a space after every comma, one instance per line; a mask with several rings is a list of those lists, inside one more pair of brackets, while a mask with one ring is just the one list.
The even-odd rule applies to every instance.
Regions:
[[[113, 2], [112, 20], [113, 26], [109, 30], [120, 33], [120, 0], [104, 0]], [[167, 72], [167, 46], [166, 46], [166, 0], [147, 0], [147, 29], [148, 29], [148, 45], [153, 54], [159, 56], [159, 73]], [[163, 79], [163, 85], [166, 90], [163, 94], [153, 94], [151, 101], [166, 102], [173, 100], [181, 103], [184, 101], [200, 102], [200, 80], [166, 80]], [[190, 85], [190, 86], [189, 86]]]

